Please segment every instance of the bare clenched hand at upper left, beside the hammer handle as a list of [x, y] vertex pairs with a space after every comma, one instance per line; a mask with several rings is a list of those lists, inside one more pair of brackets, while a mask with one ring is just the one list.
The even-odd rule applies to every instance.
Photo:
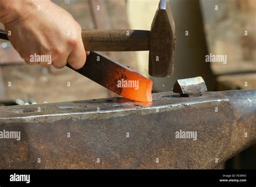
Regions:
[[84, 66], [86, 52], [81, 27], [70, 13], [48, 0], [14, 3], [17, 3], [15, 16], [5, 19], [4, 26], [6, 33], [11, 33], [9, 40], [26, 63], [44, 67], [52, 63], [62, 68], [68, 62], [75, 69]]

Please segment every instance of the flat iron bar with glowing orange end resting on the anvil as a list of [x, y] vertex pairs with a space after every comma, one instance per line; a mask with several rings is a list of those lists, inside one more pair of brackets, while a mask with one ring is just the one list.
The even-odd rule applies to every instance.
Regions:
[[101, 53], [91, 52], [84, 67], [73, 70], [120, 96], [139, 102], [152, 102], [152, 80]]

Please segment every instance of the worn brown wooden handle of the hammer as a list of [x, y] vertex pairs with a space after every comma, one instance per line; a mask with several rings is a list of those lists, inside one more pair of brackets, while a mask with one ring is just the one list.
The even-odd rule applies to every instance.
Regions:
[[83, 30], [86, 51], [149, 51], [150, 31]]

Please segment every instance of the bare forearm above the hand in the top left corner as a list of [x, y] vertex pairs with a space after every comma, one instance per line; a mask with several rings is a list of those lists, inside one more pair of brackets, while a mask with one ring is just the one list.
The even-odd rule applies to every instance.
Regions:
[[[48, 0], [41, 0], [41, 3]], [[0, 0], [0, 22], [9, 23], [19, 17], [26, 15], [26, 12], [37, 9], [38, 0]]]

